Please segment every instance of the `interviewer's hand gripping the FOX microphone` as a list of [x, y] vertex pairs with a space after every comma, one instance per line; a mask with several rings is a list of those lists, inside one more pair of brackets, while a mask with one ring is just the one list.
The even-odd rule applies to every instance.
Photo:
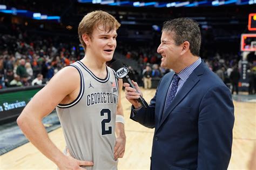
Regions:
[[138, 92], [136, 91], [136, 89], [133, 89], [132, 87], [130, 87], [130, 84], [128, 83], [124, 83], [123, 86], [125, 87], [125, 98], [127, 100], [130, 101], [130, 103], [135, 107], [135, 108], [139, 108], [142, 105], [138, 102], [138, 98], [140, 96], [143, 96], [142, 91], [140, 91], [140, 88], [138, 86], [138, 84], [136, 82], [134, 82], [132, 80], [133, 85], [136, 87], [136, 89], [138, 90]]

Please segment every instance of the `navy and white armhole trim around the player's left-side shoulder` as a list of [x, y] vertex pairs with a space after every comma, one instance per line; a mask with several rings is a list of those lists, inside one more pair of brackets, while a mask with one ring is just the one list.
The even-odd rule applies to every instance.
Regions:
[[78, 73], [80, 75], [80, 91], [79, 91], [77, 98], [74, 101], [72, 101], [69, 104], [58, 104], [57, 107], [59, 107], [59, 108], [69, 108], [69, 107], [76, 105], [80, 101], [80, 99], [82, 99], [83, 94], [84, 94], [84, 77], [83, 77], [82, 71], [76, 65], [69, 65], [69, 66], [75, 67], [78, 70]]

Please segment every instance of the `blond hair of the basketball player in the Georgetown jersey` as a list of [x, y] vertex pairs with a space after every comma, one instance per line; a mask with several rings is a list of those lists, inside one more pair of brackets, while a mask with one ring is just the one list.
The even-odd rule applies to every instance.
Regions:
[[104, 11], [93, 11], [87, 13], [78, 26], [78, 36], [80, 43], [84, 47], [84, 51], [86, 50], [86, 44], [84, 43], [83, 35], [87, 34], [91, 37], [93, 30], [100, 25], [103, 25], [104, 30], [109, 33], [114, 29], [117, 30], [121, 24], [116, 20], [116, 18]]

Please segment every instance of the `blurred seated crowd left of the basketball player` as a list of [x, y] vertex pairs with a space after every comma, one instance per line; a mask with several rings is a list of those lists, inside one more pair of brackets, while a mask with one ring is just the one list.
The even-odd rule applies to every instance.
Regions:
[[77, 60], [79, 46], [28, 33], [20, 25], [10, 27], [12, 34], [0, 33], [0, 89], [46, 83], [58, 70]]

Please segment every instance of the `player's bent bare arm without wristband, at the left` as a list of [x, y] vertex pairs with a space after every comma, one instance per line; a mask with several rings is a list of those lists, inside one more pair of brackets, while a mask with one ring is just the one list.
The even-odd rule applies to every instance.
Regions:
[[80, 78], [73, 67], [60, 70], [49, 83], [39, 91], [24, 108], [17, 119], [23, 133], [59, 169], [81, 169], [92, 166], [92, 162], [76, 160], [64, 155], [49, 139], [42, 119], [59, 104], [70, 103], [79, 93]]

